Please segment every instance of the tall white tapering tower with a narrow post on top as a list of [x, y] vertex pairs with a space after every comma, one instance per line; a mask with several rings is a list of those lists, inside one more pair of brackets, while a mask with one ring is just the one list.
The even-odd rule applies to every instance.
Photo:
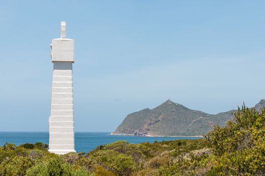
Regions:
[[61, 38], [51, 44], [52, 101], [49, 118], [49, 151], [57, 154], [75, 152], [73, 123], [74, 40], [66, 38], [66, 23], [61, 22]]

